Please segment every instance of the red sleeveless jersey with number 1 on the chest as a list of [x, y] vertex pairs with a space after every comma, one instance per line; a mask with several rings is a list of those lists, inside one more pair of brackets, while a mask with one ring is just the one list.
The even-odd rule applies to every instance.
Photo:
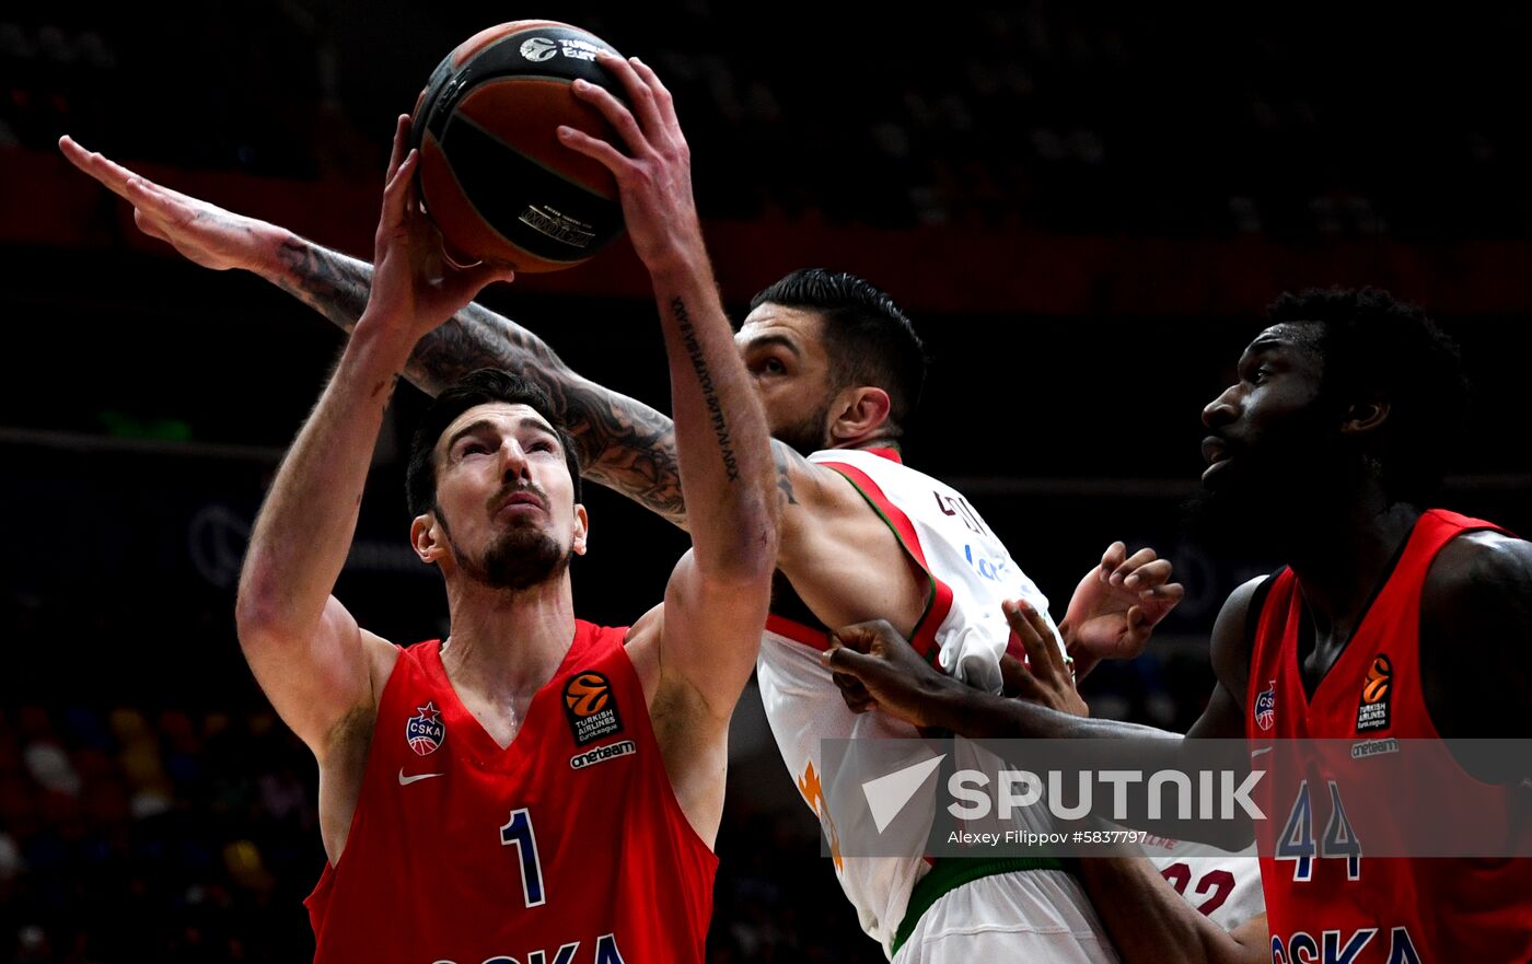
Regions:
[[305, 901], [317, 964], [702, 962], [717, 858], [671, 791], [625, 631], [576, 621], [506, 749], [440, 642], [400, 651], [345, 852]]

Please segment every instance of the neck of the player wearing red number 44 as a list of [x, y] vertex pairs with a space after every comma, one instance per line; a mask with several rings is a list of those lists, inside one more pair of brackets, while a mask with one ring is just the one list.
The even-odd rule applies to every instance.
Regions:
[[1288, 564], [1298, 573], [1304, 601], [1321, 633], [1331, 627], [1356, 628], [1356, 619], [1419, 518], [1420, 510], [1414, 506], [1370, 493], [1305, 526]]

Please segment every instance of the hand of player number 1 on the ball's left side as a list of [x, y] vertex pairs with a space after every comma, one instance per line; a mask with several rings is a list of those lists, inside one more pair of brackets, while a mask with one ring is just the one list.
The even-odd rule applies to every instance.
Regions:
[[409, 115], [400, 115], [394, 129], [363, 320], [398, 325], [418, 339], [457, 314], [484, 285], [510, 280], [515, 273], [499, 264], [458, 267], [447, 259], [441, 233], [417, 196], [420, 152], [409, 149]]

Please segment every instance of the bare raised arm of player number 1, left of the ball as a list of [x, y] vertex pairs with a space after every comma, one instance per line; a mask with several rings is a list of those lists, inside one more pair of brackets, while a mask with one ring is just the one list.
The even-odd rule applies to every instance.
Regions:
[[[372, 710], [394, 648], [332, 596], [355, 532], [383, 409], [421, 325], [440, 322], [506, 271], [441, 271], [411, 245], [429, 230], [409, 207], [414, 158], [400, 120], [377, 231], [378, 284], [319, 405], [256, 520], [236, 621], [273, 707], [326, 763], [342, 723]], [[133, 189], [133, 185], [130, 185]]]

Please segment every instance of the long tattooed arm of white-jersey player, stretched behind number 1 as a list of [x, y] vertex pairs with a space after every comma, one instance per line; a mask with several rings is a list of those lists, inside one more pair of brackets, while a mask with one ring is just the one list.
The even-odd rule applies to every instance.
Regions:
[[[351, 331], [368, 302], [372, 265], [325, 248], [267, 221], [237, 215], [149, 181], [112, 159], [87, 152], [70, 138], [60, 141], [69, 161], [135, 207], [144, 233], [169, 242], [195, 264], [214, 271], [241, 268], [280, 287], [337, 326]], [[435, 394], [476, 368], [504, 368], [524, 374], [547, 389], [561, 409], [579, 451], [585, 478], [614, 489], [682, 529], [686, 506], [676, 464], [676, 434], [669, 417], [620, 392], [581, 377], [541, 339], [507, 317], [470, 303], [420, 340], [404, 377]], [[777, 487], [783, 510], [783, 558], [789, 575], [824, 599], [832, 624], [887, 618], [908, 628], [924, 601], [919, 573], [896, 592], [899, 605], [838, 587], [846, 578], [835, 547], [858, 547], [875, 558], [869, 570], [895, 572], [902, 550], [887, 538], [882, 523], [869, 513], [838, 475], [820, 469], [791, 448], [774, 441]], [[787, 553], [789, 546], [795, 552]], [[879, 564], [881, 559], [881, 564]], [[840, 573], [840, 575], [838, 575]], [[818, 593], [815, 590], [820, 589]], [[846, 592], [843, 592], [846, 590]], [[869, 599], [847, 608], [838, 601]], [[813, 605], [813, 602], [810, 602]]]

